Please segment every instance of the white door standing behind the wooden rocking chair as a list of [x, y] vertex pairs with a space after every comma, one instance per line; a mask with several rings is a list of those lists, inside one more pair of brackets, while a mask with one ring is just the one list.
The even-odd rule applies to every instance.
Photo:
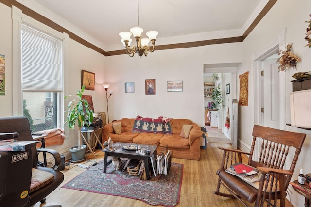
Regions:
[[276, 59], [262, 61], [263, 76], [261, 77], [263, 86], [262, 99], [262, 120], [263, 126], [279, 128], [279, 73]]

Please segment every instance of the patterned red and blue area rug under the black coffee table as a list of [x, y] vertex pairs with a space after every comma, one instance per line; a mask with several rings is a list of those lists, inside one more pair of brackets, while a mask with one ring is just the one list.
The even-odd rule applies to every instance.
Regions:
[[140, 180], [139, 176], [115, 171], [112, 164], [103, 173], [104, 163], [100, 161], [80, 175], [73, 178], [62, 188], [95, 192], [138, 199], [150, 205], [175, 206], [180, 197], [183, 178], [183, 164], [173, 163], [169, 175]]

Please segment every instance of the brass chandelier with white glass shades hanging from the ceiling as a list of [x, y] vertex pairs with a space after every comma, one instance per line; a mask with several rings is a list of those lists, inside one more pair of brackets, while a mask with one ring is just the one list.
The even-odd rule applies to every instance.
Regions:
[[[130, 31], [132, 32], [120, 32], [119, 35], [121, 36], [121, 43], [126, 48], [127, 54], [130, 57], [133, 57], [135, 53], [137, 53], [140, 58], [144, 54], [145, 56], [148, 55], [148, 52], [153, 52], [155, 50], [155, 38], [158, 32], [156, 31], [149, 31], [146, 32], [146, 35], [149, 37], [148, 38], [141, 38], [141, 33], [144, 31], [141, 27], [139, 27], [139, 0], [137, 0], [138, 3], [138, 26], [137, 27], [132, 27]], [[131, 48], [131, 35], [135, 37], [136, 40], [136, 46], [133, 46]], [[152, 43], [152, 47], [149, 47], [149, 41]]]

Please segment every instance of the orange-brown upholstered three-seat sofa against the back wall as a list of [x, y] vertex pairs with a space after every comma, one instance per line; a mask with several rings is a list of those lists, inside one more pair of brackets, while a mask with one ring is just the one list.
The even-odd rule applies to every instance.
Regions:
[[[121, 122], [121, 133], [116, 134], [113, 124]], [[132, 132], [134, 118], [122, 118], [103, 127], [102, 142], [109, 137], [113, 142], [150, 144], [158, 145], [157, 152], [161, 152], [165, 145], [172, 152], [174, 158], [200, 159], [200, 139], [202, 137], [201, 128], [189, 119], [172, 119], [170, 121], [172, 134], [161, 133], [137, 133]], [[190, 130], [189, 138], [180, 136], [183, 125], [193, 125]]]

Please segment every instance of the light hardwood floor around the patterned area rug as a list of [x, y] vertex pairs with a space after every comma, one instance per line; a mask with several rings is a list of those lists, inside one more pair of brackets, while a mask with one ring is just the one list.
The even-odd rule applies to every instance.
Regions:
[[[207, 149], [201, 150], [200, 160], [173, 158], [173, 162], [184, 164], [180, 200], [176, 207], [243, 206], [236, 199], [213, 194], [218, 179], [216, 171], [222, 158], [222, 151], [217, 146], [230, 147], [230, 144], [208, 143]], [[97, 150], [96, 154], [98, 155], [97, 161], [103, 159], [104, 153], [101, 150]], [[88, 157], [93, 159], [91, 154]], [[87, 164], [94, 161], [91, 160]], [[66, 166], [67, 168], [69, 166]], [[151, 205], [135, 199], [61, 188], [62, 185], [85, 170], [78, 166], [73, 167], [73, 165], [70, 165], [69, 170], [66, 169], [62, 171], [65, 175], [64, 182], [47, 197], [47, 202], [42, 206], [61, 204], [63, 207], [151, 207]], [[35, 207], [39, 207], [39, 204], [37, 203]], [[287, 202], [286, 206], [290, 207], [291, 205]]]

